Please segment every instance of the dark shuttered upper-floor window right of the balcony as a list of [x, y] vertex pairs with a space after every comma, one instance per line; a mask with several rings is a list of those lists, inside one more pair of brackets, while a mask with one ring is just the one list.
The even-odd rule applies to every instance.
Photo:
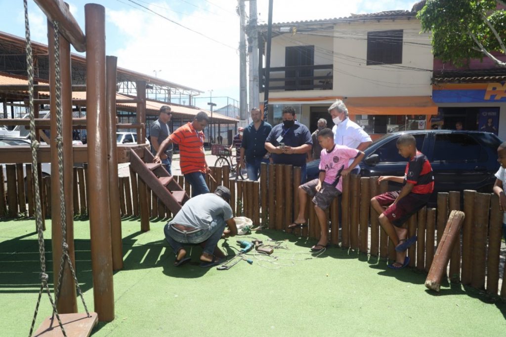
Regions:
[[367, 32], [367, 65], [402, 63], [402, 32]]

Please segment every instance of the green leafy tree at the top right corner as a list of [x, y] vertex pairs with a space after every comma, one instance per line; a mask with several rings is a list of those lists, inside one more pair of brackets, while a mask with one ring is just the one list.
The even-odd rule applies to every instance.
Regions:
[[506, 55], [506, 6], [503, 0], [428, 0], [417, 18], [424, 32], [432, 32], [435, 57], [457, 66], [484, 56], [506, 67], [491, 52]]

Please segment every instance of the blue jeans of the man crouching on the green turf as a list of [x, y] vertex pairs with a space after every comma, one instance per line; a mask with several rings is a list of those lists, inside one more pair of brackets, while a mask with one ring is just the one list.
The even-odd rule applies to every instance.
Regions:
[[177, 254], [184, 244], [201, 244], [205, 242], [203, 252], [213, 255], [218, 241], [225, 230], [226, 222], [223, 218], [214, 219], [208, 229], [195, 229], [191, 231], [180, 230], [168, 223], [163, 228], [165, 240], [171, 245], [174, 254]]

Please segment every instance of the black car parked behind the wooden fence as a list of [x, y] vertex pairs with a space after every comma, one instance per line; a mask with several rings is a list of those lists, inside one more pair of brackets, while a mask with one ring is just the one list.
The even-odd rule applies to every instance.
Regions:
[[[403, 176], [407, 161], [398, 153], [396, 141], [402, 133], [416, 139], [416, 148], [424, 153], [434, 171], [437, 192], [474, 189], [491, 192], [499, 168], [497, 147], [502, 142], [495, 134], [480, 131], [419, 130], [389, 133], [374, 141], [360, 163], [362, 176]], [[391, 189], [400, 184], [390, 182]]]

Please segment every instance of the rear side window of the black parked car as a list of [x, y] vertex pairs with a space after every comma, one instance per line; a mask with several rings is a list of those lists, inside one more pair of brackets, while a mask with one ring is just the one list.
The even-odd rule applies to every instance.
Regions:
[[484, 162], [487, 154], [471, 136], [461, 133], [436, 135], [434, 161], [442, 162]]

